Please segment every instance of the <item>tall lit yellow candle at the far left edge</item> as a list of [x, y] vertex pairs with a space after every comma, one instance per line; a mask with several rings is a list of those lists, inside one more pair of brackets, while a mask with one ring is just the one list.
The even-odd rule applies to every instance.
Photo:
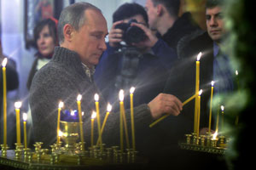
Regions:
[[[7, 100], [6, 100], [6, 64], [7, 58], [3, 59], [2, 70], [3, 70], [3, 145], [6, 147], [7, 144]], [[0, 104], [1, 105], [1, 104]]]

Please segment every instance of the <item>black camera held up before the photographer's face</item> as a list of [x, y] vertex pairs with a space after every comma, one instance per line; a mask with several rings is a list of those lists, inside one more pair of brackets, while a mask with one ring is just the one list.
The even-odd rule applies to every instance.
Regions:
[[124, 31], [123, 40], [127, 45], [131, 45], [131, 43], [142, 42], [147, 38], [145, 32], [141, 28], [137, 26], [131, 26], [132, 22], [137, 23], [137, 20], [131, 19], [128, 23], [121, 23], [115, 26], [115, 28], [119, 28]]

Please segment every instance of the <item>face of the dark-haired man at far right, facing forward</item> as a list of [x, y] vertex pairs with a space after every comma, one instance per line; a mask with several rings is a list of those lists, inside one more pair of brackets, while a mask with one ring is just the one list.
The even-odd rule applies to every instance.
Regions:
[[207, 31], [213, 41], [219, 42], [224, 35], [223, 14], [220, 7], [207, 8]]

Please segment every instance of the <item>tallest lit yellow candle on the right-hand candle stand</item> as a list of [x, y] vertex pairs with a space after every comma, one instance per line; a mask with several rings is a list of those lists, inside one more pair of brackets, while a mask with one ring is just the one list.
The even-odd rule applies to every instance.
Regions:
[[[195, 94], [198, 94], [199, 92], [199, 85], [200, 85], [200, 58], [201, 58], [201, 52], [197, 55], [197, 60], [195, 62]], [[195, 98], [195, 117], [194, 117], [194, 133], [196, 133], [197, 130], [197, 113], [198, 113], [198, 98]]]

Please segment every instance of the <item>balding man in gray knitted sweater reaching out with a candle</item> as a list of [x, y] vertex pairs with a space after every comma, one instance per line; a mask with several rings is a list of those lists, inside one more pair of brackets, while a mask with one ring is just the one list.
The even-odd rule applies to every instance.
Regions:
[[[59, 102], [64, 102], [65, 109], [77, 109], [76, 99], [82, 94], [84, 136], [88, 146], [90, 115], [95, 110], [94, 95], [99, 94], [91, 77], [94, 65], [107, 48], [107, 21], [100, 9], [90, 3], [74, 3], [61, 12], [58, 34], [60, 47], [55, 48], [51, 61], [35, 75], [30, 90], [35, 140], [43, 142], [44, 147], [55, 143]], [[101, 95], [99, 104], [103, 120], [107, 107]], [[137, 135], [162, 114], [177, 116], [181, 110], [180, 100], [170, 94], [159, 94], [148, 104], [134, 108]], [[126, 111], [126, 121], [131, 129], [130, 111]], [[110, 145], [119, 144], [119, 113], [111, 113], [108, 117], [102, 140]]]

